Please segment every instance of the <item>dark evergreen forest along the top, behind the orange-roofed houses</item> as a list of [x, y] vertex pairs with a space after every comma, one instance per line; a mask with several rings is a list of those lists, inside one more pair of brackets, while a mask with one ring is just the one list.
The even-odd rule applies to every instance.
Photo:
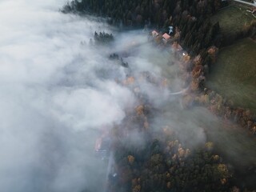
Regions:
[[221, 0], [74, 0], [66, 4], [62, 12], [94, 13], [110, 18], [110, 22], [118, 26], [148, 26], [159, 30], [165, 30], [167, 26], [177, 26], [182, 31], [182, 47], [195, 55], [206, 47], [220, 43], [218, 22], [211, 23], [210, 15], [221, 6]]

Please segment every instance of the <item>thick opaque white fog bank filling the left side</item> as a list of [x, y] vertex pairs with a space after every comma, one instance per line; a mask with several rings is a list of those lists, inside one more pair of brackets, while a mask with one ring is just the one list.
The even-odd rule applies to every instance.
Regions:
[[134, 102], [111, 74], [98, 78], [109, 62], [102, 51], [80, 45], [107, 26], [58, 12], [65, 2], [0, 2], [2, 192], [100, 191], [97, 129]]

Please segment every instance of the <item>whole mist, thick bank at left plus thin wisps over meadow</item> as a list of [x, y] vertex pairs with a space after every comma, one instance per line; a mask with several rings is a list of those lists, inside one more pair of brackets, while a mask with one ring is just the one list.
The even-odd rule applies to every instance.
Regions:
[[[170, 93], [186, 87], [170, 49], [150, 45], [141, 30], [62, 14], [65, 3], [0, 2], [0, 191], [103, 191], [107, 165], [94, 143], [140, 104], [136, 88], [165, 111], [151, 128], [171, 126], [188, 146], [206, 142], [202, 126], [218, 122], [204, 112], [180, 116], [180, 97]], [[94, 31], [114, 34], [114, 43], [90, 45]], [[129, 67], [110, 60], [113, 53]], [[168, 86], [137, 81], [146, 71]], [[130, 76], [133, 86], [124, 83]]]

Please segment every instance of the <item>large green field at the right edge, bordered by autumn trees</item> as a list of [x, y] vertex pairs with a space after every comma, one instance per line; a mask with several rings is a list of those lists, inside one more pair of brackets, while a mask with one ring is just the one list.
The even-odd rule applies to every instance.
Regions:
[[256, 43], [245, 38], [220, 50], [207, 86], [256, 114]]

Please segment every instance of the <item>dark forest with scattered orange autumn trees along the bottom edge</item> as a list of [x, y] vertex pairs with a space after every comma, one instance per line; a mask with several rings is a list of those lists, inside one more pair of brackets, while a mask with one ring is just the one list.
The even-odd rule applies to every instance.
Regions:
[[[149, 130], [150, 107], [137, 106], [130, 117], [141, 125], [143, 145], [131, 143], [131, 135], [122, 135], [124, 127], [114, 128], [117, 178], [110, 176], [109, 191], [228, 191], [232, 171], [214, 154], [212, 142], [190, 151], [178, 141], [177, 135], [165, 126], [161, 131]], [[145, 126], [147, 125], [147, 126]], [[125, 128], [129, 129], [129, 128]], [[234, 188], [235, 189], [235, 188]]]

